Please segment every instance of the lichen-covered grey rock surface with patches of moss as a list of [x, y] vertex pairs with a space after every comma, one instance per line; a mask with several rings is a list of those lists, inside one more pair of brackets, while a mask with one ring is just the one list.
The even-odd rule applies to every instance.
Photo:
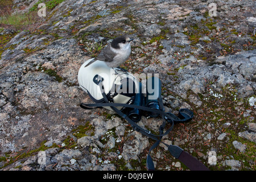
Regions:
[[[163, 140], [212, 170], [255, 170], [255, 2], [219, 1], [210, 16], [212, 2], [65, 0], [29, 30], [0, 28], [1, 170], [146, 169], [154, 141], [112, 111], [79, 106], [92, 102], [80, 66], [123, 34], [134, 41], [122, 67], [159, 73], [166, 110], [194, 112]], [[14, 1], [14, 12], [36, 6]], [[187, 169], [164, 147], [151, 152], [156, 169]]]

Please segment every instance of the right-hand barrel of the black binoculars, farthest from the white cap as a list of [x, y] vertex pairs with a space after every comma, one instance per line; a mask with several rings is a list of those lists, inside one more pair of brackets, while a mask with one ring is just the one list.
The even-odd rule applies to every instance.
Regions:
[[[159, 110], [158, 98], [161, 97], [161, 81], [158, 77], [151, 77], [147, 79], [147, 97], [146, 106], [151, 109]], [[152, 118], [158, 117], [158, 113], [148, 112]]]

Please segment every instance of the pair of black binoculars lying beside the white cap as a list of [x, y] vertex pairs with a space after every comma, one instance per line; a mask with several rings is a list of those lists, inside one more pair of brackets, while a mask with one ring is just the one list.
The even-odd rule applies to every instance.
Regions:
[[[158, 77], [150, 77], [147, 79], [146, 84], [146, 97], [142, 94], [142, 84], [139, 82], [139, 92], [135, 95], [135, 98], [131, 104], [137, 106], [147, 106], [150, 109], [159, 110], [158, 98], [161, 96], [161, 81]], [[147, 112], [147, 114], [152, 117], [158, 117], [156, 112]], [[127, 111], [128, 117], [134, 122], [139, 122], [141, 120], [142, 111], [140, 109], [129, 109]]]

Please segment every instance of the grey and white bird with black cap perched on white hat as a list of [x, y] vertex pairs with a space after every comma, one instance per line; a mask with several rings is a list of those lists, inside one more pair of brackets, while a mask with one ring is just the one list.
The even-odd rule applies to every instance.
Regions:
[[106, 65], [108, 65], [110, 68], [119, 67], [119, 65], [124, 63], [130, 56], [130, 43], [132, 40], [133, 39], [130, 39], [124, 35], [118, 36], [100, 52], [96, 59], [90, 61], [85, 65], [85, 67], [92, 64], [96, 60], [105, 61]]

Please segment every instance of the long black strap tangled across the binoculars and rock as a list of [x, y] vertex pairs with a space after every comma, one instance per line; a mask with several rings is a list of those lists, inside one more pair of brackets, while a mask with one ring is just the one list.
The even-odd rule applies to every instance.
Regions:
[[[156, 140], [156, 142], [151, 146], [151, 148], [148, 152], [148, 155], [147, 155], [147, 169], [148, 170], [154, 170], [155, 169], [154, 168], [154, 163], [153, 163], [152, 158], [150, 156], [150, 152], [152, 150], [154, 150], [154, 148], [156, 148], [159, 145], [159, 143], [161, 142], [161, 139], [164, 135], [167, 135], [168, 133], [170, 133], [170, 131], [174, 127], [174, 121], [176, 121], [176, 122], [185, 122], [185, 121], [190, 120], [193, 117], [193, 115], [188, 114], [188, 117], [187, 117], [186, 114], [183, 113], [183, 115], [182, 115], [181, 112], [180, 112], [180, 116], [183, 117], [184, 119], [179, 119], [178, 117], [176, 117], [176, 115], [164, 112], [163, 102], [162, 102], [161, 98], [158, 98], [160, 110], [153, 110], [153, 109], [150, 109], [149, 107], [129, 105], [129, 104], [110, 103], [108, 101], [108, 98], [106, 97], [105, 92], [104, 92], [103, 85], [100, 84], [99, 86], [101, 88], [101, 93], [102, 93], [102, 96], [103, 96], [106, 103], [81, 104], [80, 106], [84, 109], [92, 109], [92, 108], [96, 108], [96, 107], [110, 106], [111, 109], [114, 110], [118, 115], [120, 115], [122, 118], [126, 119], [126, 121], [128, 121], [136, 131], [139, 131], [143, 135], [146, 135], [147, 137]], [[138, 126], [134, 121], [132, 121], [132, 119], [127, 117], [126, 114], [124, 114], [124, 113], [122, 113], [122, 111], [118, 110], [116, 108], [116, 106], [133, 107], [133, 108], [137, 108], [137, 109], [143, 109], [143, 110], [146, 110], [146, 111], [154, 111], [154, 112], [159, 113], [163, 118], [163, 124], [159, 128], [159, 133], [160, 134], [159, 135], [154, 135], [150, 131], [145, 130], [142, 127]], [[164, 126], [166, 125], [166, 122], [165, 122], [166, 119], [167, 119], [168, 122], [171, 122], [172, 125], [165, 133], [163, 133]], [[163, 142], [161, 142], [161, 143], [163, 143]], [[193, 156], [189, 155], [187, 152], [183, 151], [180, 147], [174, 146], [174, 145], [168, 145], [166, 143], [163, 143], [163, 144], [165, 144], [168, 147], [168, 150], [170, 151], [170, 153], [175, 158], [177, 158], [181, 162], [183, 162], [189, 169], [191, 169], [191, 170], [203, 170], [203, 171], [208, 171], [209, 170], [207, 167], [204, 166], [204, 164], [199, 162], [199, 160], [197, 160]]]

